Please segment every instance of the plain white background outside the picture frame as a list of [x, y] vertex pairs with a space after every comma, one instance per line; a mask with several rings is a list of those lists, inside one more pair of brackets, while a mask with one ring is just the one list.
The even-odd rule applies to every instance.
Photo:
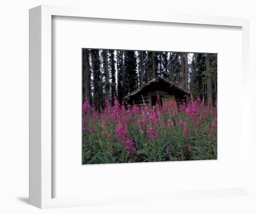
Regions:
[[[84, 0], [9, 0], [0, 7], [0, 211], [1, 213], [255, 213], [246, 196], [195, 200], [162, 201], [104, 207], [43, 210], [27, 205], [28, 201], [28, 9], [40, 4], [84, 6], [106, 11], [128, 10], [131, 13], [189, 13], [251, 18], [250, 37], [256, 38], [256, 15], [253, 1], [84, 1]], [[188, 37], [189, 39], [189, 37]], [[250, 41], [251, 71], [256, 58], [255, 39]], [[251, 83], [255, 78], [253, 72]], [[251, 84], [251, 90], [253, 90]], [[253, 94], [254, 96], [254, 94]], [[239, 98], [238, 98], [239, 99]], [[235, 101], [234, 101], [235, 102]], [[239, 102], [239, 100], [238, 100]], [[253, 107], [252, 105], [251, 107]], [[255, 118], [255, 113], [251, 112]], [[234, 116], [235, 117], [235, 116]], [[235, 121], [235, 118], [234, 118]], [[252, 119], [253, 121], [253, 119]], [[252, 127], [253, 123], [251, 123]], [[252, 136], [253, 137], [253, 136]], [[255, 138], [253, 138], [255, 140]], [[253, 151], [255, 149], [251, 148]], [[255, 157], [251, 157], [255, 161]], [[255, 170], [252, 171], [255, 178]], [[254, 186], [255, 188], [255, 186]], [[252, 198], [250, 198], [252, 200]], [[218, 204], [218, 206], [215, 206]]]

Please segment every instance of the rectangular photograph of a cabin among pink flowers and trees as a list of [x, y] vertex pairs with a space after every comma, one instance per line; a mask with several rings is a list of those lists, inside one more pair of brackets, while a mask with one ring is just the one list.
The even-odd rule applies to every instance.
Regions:
[[217, 53], [81, 57], [82, 165], [217, 160]]

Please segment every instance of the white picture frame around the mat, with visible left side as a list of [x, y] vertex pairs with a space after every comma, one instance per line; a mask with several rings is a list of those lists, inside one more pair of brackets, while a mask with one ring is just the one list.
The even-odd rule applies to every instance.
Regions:
[[[116, 14], [99, 14], [81, 8], [64, 6], [38, 6], [29, 11], [29, 203], [38, 208], [58, 208], [87, 206], [94, 204], [125, 203], [133, 201], [154, 201], [164, 196], [150, 195], [143, 198], [135, 195], [131, 200], [125, 197], [101, 198], [88, 201], [88, 198], [52, 198], [52, 16], [90, 17], [101, 19], [141, 20], [171, 22], [180, 24], [199, 24], [216, 26], [239, 26], [243, 32], [243, 98], [249, 100], [249, 19], [179, 15], [179, 14], [131, 14], [122, 11]], [[249, 106], [243, 105], [243, 123], [249, 124]], [[249, 154], [249, 127], [243, 129], [243, 153]], [[249, 156], [243, 161], [244, 176], [249, 180]], [[243, 188], [199, 190], [186, 192], [186, 197], [200, 195], [244, 195], [249, 194], [249, 182]], [[182, 190], [183, 191], [183, 190]], [[182, 195], [176, 193], [176, 195]], [[183, 192], [184, 193], [184, 192]], [[169, 195], [169, 196], [167, 196]], [[167, 200], [174, 196], [166, 194]], [[181, 197], [182, 196], [178, 196]]]

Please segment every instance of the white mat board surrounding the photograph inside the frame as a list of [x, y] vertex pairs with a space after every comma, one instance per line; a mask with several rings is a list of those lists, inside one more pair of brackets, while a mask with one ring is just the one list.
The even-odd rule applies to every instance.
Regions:
[[[70, 17], [54, 17], [53, 26], [54, 198], [243, 187], [241, 103], [230, 107], [242, 90], [226, 91], [241, 84], [242, 28]], [[81, 166], [81, 47], [217, 52], [218, 161]]]

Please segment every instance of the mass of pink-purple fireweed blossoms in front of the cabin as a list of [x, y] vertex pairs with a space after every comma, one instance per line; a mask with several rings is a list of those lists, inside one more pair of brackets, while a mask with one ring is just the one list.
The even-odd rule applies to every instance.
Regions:
[[[179, 129], [183, 132], [184, 136], [192, 135], [194, 131], [196, 133], [201, 130], [208, 131], [211, 136], [216, 135], [216, 107], [204, 106], [204, 102], [200, 98], [187, 101], [188, 107], [181, 105], [179, 111], [182, 110], [183, 112], [178, 111], [176, 102], [163, 104], [162, 108], [159, 106], [155, 110], [148, 106], [139, 108], [134, 105], [129, 111], [126, 110], [125, 105], [120, 105], [118, 100], [115, 100], [113, 106], [111, 106], [108, 100], [105, 103], [105, 108], [99, 111], [96, 111], [94, 106], [88, 102], [82, 105], [83, 136], [86, 138], [92, 137], [95, 141], [97, 141], [98, 137], [101, 139], [106, 138], [106, 146], [109, 144], [107, 142], [112, 141], [114, 148], [117, 140], [121, 144], [121, 149], [128, 154], [128, 162], [135, 162], [138, 159], [136, 152], [140, 148], [140, 142], [135, 142], [135, 139], [140, 139], [142, 136], [147, 137], [148, 142], [152, 144], [158, 137], [160, 139], [162, 131], [173, 130], [175, 124], [177, 128], [180, 126]], [[209, 124], [205, 124], [198, 129], [197, 125], [208, 121]], [[191, 124], [191, 126], [188, 127], [188, 124]], [[100, 128], [99, 136], [94, 134], [97, 126]], [[131, 133], [129, 133], [128, 127], [132, 126], [136, 126], [138, 129], [132, 129]], [[113, 134], [113, 129], [115, 134]], [[112, 134], [109, 134], [109, 132]], [[179, 132], [172, 132], [174, 136], [179, 136], [177, 135]], [[168, 139], [164, 140], [168, 141]], [[203, 141], [203, 139], [199, 140]], [[135, 147], [135, 143], [138, 145], [138, 148]], [[186, 148], [190, 154], [194, 152], [192, 146], [192, 144], [189, 144]], [[170, 149], [165, 149], [165, 154], [166, 156], [175, 156], [171, 153]]]

